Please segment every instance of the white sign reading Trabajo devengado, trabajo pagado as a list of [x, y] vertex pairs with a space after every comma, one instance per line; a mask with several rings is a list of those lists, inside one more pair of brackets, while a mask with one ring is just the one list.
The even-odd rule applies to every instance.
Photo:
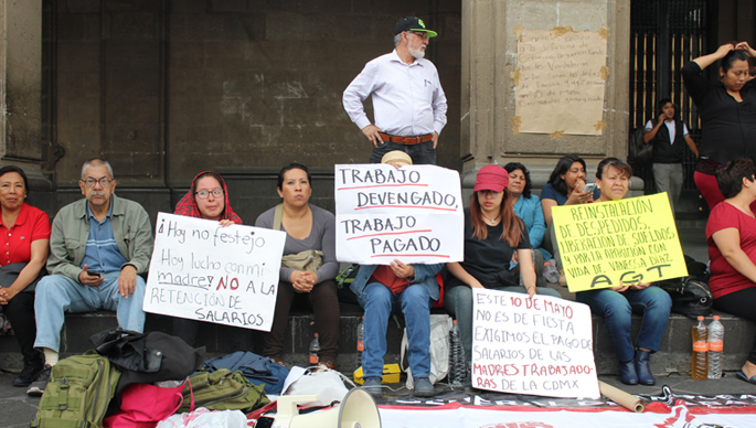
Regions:
[[459, 173], [434, 165], [336, 165], [340, 261], [436, 264], [464, 258]]

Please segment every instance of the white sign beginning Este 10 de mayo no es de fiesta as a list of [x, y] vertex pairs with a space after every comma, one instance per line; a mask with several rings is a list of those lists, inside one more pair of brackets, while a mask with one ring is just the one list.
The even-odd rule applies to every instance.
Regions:
[[590, 309], [473, 288], [471, 375], [481, 389], [598, 398]]

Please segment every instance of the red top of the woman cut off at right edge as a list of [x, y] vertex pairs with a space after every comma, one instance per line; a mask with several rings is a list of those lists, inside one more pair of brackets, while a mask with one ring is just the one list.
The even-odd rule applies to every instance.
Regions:
[[749, 287], [756, 287], [750, 279], [741, 272], [724, 258], [720, 248], [714, 244], [712, 235], [725, 228], [736, 228], [741, 234], [741, 249], [745, 252], [750, 261], [756, 264], [756, 218], [745, 214], [727, 202], [720, 202], [709, 215], [706, 223], [706, 243], [709, 244], [710, 269], [712, 277], [709, 279], [709, 288], [714, 298], [730, 295]]

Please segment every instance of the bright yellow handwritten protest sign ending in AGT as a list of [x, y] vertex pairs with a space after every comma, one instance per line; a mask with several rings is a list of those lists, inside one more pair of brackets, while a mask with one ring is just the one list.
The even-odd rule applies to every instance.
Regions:
[[688, 275], [667, 193], [552, 208], [569, 291]]

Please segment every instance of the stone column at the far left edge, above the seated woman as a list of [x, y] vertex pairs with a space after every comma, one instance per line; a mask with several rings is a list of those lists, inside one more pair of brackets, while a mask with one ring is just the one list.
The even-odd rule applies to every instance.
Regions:
[[42, 160], [41, 61], [42, 1], [0, 0], [1, 159], [38, 173]]

